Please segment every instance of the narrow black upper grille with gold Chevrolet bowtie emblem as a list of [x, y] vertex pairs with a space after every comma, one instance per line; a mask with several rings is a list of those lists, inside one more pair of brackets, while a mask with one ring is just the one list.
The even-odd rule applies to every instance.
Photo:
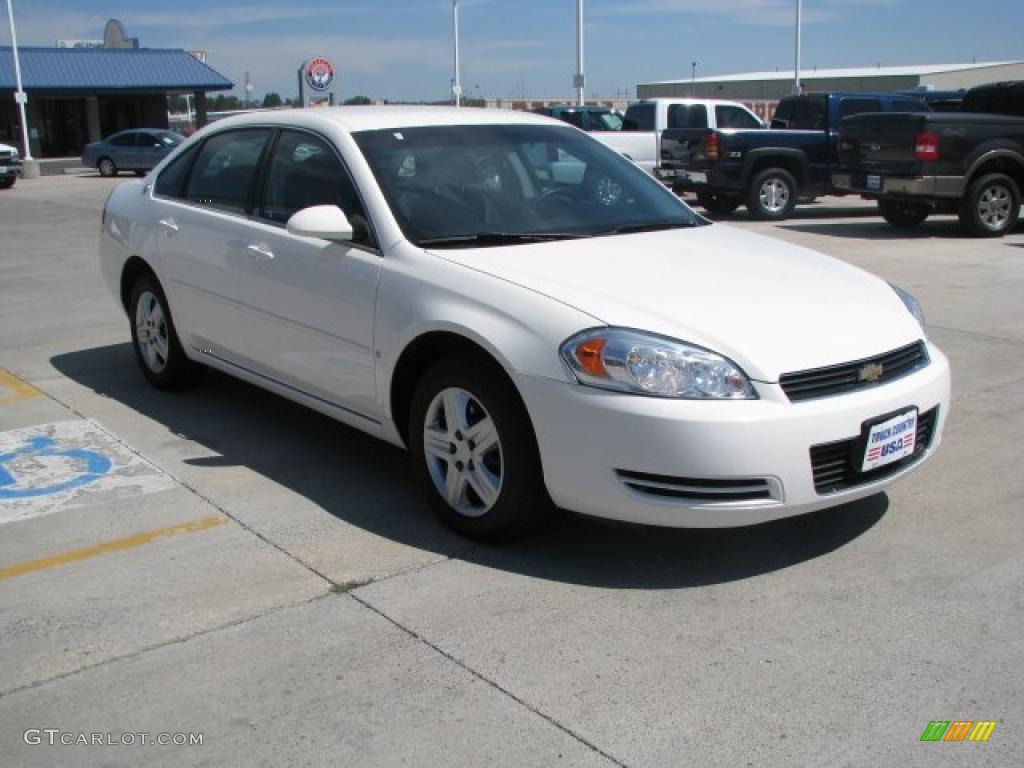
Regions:
[[[928, 351], [925, 349], [925, 344], [915, 341], [892, 352], [862, 360], [783, 374], [779, 384], [790, 400], [798, 402], [885, 384], [927, 365]], [[882, 374], [874, 381], [865, 381], [862, 372], [870, 366], [882, 366]]]

